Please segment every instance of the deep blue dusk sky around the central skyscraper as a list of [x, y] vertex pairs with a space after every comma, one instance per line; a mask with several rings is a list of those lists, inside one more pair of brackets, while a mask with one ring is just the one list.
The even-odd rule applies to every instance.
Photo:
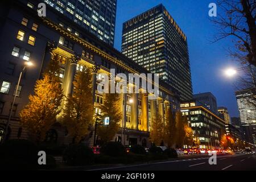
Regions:
[[224, 70], [238, 68], [240, 65], [226, 51], [232, 46], [230, 38], [214, 44], [209, 41], [217, 31], [208, 16], [208, 5], [212, 2], [216, 1], [117, 0], [114, 47], [121, 50], [123, 22], [162, 3], [187, 35], [193, 93], [212, 92], [218, 106], [228, 107], [230, 116], [238, 117], [233, 86], [236, 78], [227, 78]]

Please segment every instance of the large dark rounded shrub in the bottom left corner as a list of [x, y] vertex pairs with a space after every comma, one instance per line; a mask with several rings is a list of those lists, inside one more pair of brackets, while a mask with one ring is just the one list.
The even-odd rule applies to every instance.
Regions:
[[7, 140], [1, 146], [0, 166], [4, 169], [37, 169], [38, 147], [24, 139]]

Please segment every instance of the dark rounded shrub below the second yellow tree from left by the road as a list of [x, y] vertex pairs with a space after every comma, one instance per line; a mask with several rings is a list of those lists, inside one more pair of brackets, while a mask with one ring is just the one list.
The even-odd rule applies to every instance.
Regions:
[[92, 164], [94, 154], [91, 148], [84, 144], [71, 144], [64, 150], [63, 160], [70, 166]]

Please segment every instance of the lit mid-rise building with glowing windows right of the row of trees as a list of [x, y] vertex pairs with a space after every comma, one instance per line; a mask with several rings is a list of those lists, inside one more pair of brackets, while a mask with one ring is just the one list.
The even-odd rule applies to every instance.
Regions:
[[220, 147], [221, 137], [226, 133], [223, 119], [206, 107], [196, 105], [196, 101], [181, 102], [180, 109], [188, 117], [193, 140], [200, 148]]

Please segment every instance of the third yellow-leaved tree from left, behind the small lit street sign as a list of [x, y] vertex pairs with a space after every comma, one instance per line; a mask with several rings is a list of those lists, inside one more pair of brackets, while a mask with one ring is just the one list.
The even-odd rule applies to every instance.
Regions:
[[[106, 93], [101, 109], [101, 125], [98, 126], [97, 134], [104, 144], [111, 141], [120, 128], [122, 120], [121, 102], [118, 93]], [[109, 125], [103, 125], [103, 119], [109, 117]]]

